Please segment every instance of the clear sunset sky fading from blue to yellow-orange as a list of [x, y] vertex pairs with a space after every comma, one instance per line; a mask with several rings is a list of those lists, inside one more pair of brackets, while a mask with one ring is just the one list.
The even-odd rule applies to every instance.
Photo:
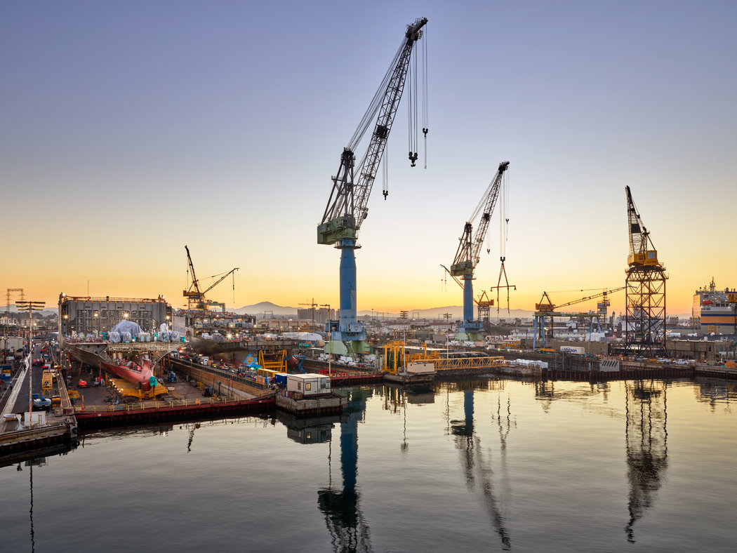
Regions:
[[563, 303], [623, 286], [625, 186], [666, 265], [669, 314], [690, 313], [712, 277], [737, 286], [733, 1], [0, 10], [3, 298], [24, 288], [50, 306], [61, 292], [184, 305], [186, 245], [201, 288], [239, 268], [208, 294], [228, 307], [337, 306], [340, 253], [316, 227], [340, 153], [419, 17], [427, 156], [421, 143], [409, 166], [405, 94], [388, 199], [379, 175], [360, 229], [358, 310], [461, 305], [441, 264], [505, 160], [507, 240], [497, 204], [477, 295], [497, 285], [502, 251], [512, 309], [533, 310], [543, 291]]

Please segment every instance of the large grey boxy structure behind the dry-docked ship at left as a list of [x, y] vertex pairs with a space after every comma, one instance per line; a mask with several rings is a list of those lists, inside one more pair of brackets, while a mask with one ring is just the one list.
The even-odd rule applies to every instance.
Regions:
[[59, 332], [108, 332], [122, 320], [138, 323], [142, 330], [172, 324], [172, 307], [163, 296], [157, 299], [130, 299], [59, 296]]

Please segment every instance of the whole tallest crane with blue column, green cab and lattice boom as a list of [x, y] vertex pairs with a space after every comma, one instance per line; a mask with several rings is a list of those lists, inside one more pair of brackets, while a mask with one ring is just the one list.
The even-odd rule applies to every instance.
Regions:
[[[407, 31], [399, 45], [399, 50], [391, 66], [371, 101], [366, 114], [361, 119], [347, 147], [340, 154], [338, 173], [332, 177], [332, 190], [325, 207], [321, 223], [318, 225], [318, 244], [335, 244], [340, 250], [340, 321], [338, 330], [332, 332], [331, 341], [343, 342], [343, 347], [335, 344], [332, 352], [344, 350], [346, 353], [368, 352], [366, 331], [363, 323], [356, 318], [356, 258], [354, 250], [361, 223], [368, 214], [368, 196], [374, 184], [386, 142], [397, 114], [399, 100], [405, 88], [405, 79], [410, 66], [413, 47], [422, 37], [422, 27], [427, 18], [419, 18], [407, 26]], [[378, 114], [378, 116], [377, 116]], [[368, 150], [360, 161], [360, 170], [354, 181], [355, 149], [371, 121], [377, 116]], [[413, 161], [413, 154], [410, 154]], [[384, 192], [386, 196], [386, 191]], [[329, 323], [328, 323], [329, 325]], [[329, 327], [326, 328], [329, 330]]]

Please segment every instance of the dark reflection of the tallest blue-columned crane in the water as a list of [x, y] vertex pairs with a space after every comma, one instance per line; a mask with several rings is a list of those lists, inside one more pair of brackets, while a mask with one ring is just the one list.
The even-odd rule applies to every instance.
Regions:
[[[342, 392], [346, 393], [346, 392]], [[340, 423], [340, 474], [343, 487], [332, 484], [332, 440], [329, 443], [328, 485], [318, 490], [318, 507], [325, 517], [335, 552], [371, 552], [371, 536], [360, 510], [358, 476], [358, 423], [366, 413], [370, 389], [351, 389], [344, 422]]]

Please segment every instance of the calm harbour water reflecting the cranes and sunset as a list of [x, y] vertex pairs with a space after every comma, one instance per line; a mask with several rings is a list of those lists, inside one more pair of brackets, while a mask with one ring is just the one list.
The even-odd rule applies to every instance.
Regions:
[[[733, 550], [732, 384], [482, 379], [0, 468], [3, 552]], [[287, 421], [293, 425], [293, 421]]]

